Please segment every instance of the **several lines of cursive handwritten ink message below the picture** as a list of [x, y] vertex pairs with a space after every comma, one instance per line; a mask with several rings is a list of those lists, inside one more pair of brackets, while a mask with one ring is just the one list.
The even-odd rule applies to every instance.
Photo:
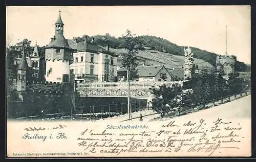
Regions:
[[[77, 145], [87, 154], [105, 154], [108, 156], [145, 153], [166, 155], [166, 153], [200, 153], [214, 156], [223, 150], [241, 149], [244, 136], [241, 135], [240, 123], [224, 121], [220, 118], [205, 122], [187, 121], [177, 123], [168, 121], [157, 129], [108, 129], [94, 130], [85, 128], [76, 138]], [[113, 127], [113, 126], [111, 126]], [[123, 128], [123, 126], [119, 126]]]

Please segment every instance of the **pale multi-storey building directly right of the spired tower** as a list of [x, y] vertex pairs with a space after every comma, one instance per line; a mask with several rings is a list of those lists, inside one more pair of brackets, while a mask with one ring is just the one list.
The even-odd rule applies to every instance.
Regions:
[[[75, 81], [81, 82], [114, 82], [117, 81], [118, 55], [104, 50], [94, 42], [76, 42], [69, 40], [73, 45], [73, 63], [71, 71], [75, 74]], [[72, 47], [72, 45], [70, 45]]]

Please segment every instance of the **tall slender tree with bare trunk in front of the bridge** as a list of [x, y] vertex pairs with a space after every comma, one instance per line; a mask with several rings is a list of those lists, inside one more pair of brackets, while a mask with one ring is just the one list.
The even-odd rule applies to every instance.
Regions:
[[120, 47], [127, 50], [126, 54], [122, 55], [122, 67], [127, 70], [127, 100], [128, 100], [128, 113], [129, 119], [132, 118], [131, 112], [131, 95], [130, 95], [130, 72], [135, 71], [137, 63], [135, 62], [135, 54], [138, 53], [138, 42], [132, 35], [130, 30], [126, 31], [126, 34], [122, 37], [124, 41], [120, 44]]

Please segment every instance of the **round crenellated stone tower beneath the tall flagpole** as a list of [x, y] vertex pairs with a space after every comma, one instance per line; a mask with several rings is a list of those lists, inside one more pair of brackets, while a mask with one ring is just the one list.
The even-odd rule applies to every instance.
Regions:
[[234, 65], [236, 64], [237, 57], [233, 55], [219, 55], [216, 57], [217, 69], [221, 70], [224, 73], [224, 76], [227, 76], [230, 73], [235, 73]]

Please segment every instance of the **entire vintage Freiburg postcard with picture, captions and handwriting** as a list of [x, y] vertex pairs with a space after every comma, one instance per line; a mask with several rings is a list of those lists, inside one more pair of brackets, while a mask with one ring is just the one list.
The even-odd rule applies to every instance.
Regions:
[[8, 158], [251, 156], [250, 6], [8, 6]]

